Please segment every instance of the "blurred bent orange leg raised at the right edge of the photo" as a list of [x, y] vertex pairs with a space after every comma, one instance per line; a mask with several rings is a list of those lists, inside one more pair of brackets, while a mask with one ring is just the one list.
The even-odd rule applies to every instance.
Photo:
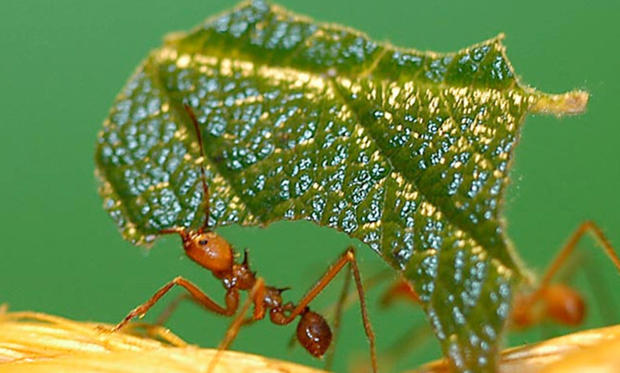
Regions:
[[594, 221], [584, 221], [577, 229], [572, 233], [569, 238], [569, 241], [564, 245], [564, 247], [559, 251], [554, 261], [552, 261], [551, 265], [547, 269], [547, 273], [545, 273], [544, 277], [540, 281], [540, 288], [544, 288], [549, 285], [549, 282], [552, 280], [553, 276], [557, 273], [559, 268], [562, 267], [564, 262], [569, 258], [569, 256], [574, 251], [574, 248], [577, 246], [577, 243], [581, 240], [585, 233], [590, 232], [592, 236], [599, 243], [604, 253], [611, 259], [611, 262], [614, 263], [616, 269], [620, 271], [620, 258], [618, 258], [618, 254], [614, 251], [614, 248], [611, 247], [611, 243], [601, 231]]

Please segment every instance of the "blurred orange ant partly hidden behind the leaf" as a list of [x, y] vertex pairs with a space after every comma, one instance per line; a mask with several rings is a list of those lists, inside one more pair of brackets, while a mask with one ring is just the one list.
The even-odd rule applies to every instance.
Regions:
[[[559, 251], [551, 266], [547, 269], [537, 289], [518, 294], [512, 306], [510, 317], [511, 326], [515, 329], [525, 329], [551, 320], [560, 325], [577, 326], [584, 321], [586, 304], [581, 294], [569, 285], [552, 283], [552, 278], [564, 265], [574, 248], [585, 233], [591, 233], [598, 241], [606, 256], [620, 271], [620, 258], [615, 253], [611, 243], [604, 236], [601, 228], [593, 221], [585, 221], [570, 236], [569, 241]], [[381, 303], [388, 305], [398, 298], [404, 298], [413, 303], [420, 303], [420, 298], [410, 283], [405, 280], [397, 280], [383, 295]]]

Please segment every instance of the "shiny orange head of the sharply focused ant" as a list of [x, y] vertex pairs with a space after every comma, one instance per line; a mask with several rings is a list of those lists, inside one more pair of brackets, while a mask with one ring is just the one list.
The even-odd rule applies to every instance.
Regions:
[[234, 263], [232, 246], [213, 231], [194, 231], [183, 236], [183, 248], [192, 261], [212, 272], [226, 272]]

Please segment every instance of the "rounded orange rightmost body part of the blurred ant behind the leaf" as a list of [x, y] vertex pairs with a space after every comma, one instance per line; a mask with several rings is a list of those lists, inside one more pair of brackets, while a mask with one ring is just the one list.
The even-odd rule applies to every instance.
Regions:
[[556, 322], [577, 326], [584, 321], [586, 304], [573, 288], [563, 284], [549, 285], [542, 296], [547, 302], [547, 316]]

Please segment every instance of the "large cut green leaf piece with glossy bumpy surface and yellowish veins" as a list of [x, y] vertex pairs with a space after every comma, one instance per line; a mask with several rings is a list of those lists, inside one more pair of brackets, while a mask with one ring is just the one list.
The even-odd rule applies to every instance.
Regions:
[[[502, 36], [441, 54], [254, 1], [167, 38], [98, 137], [105, 209], [136, 244], [164, 228], [307, 219], [403, 271], [459, 370], [495, 370], [522, 273], [500, 219], [527, 112], [587, 94], [520, 84]], [[201, 126], [205, 157], [184, 105]]]

